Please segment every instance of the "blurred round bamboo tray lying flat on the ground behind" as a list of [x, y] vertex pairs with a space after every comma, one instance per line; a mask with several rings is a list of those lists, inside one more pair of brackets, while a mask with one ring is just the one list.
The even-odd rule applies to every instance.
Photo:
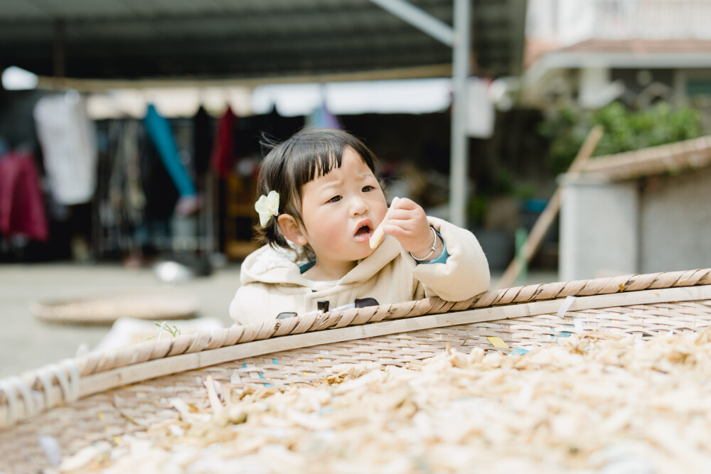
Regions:
[[198, 301], [178, 291], [132, 291], [36, 301], [31, 310], [50, 323], [111, 325], [118, 318], [151, 321], [193, 318]]

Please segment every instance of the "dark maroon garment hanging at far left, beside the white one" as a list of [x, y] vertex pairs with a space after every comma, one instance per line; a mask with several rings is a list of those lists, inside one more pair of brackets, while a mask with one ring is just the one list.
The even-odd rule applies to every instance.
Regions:
[[31, 153], [10, 152], [0, 157], [0, 232], [49, 239], [39, 176]]

